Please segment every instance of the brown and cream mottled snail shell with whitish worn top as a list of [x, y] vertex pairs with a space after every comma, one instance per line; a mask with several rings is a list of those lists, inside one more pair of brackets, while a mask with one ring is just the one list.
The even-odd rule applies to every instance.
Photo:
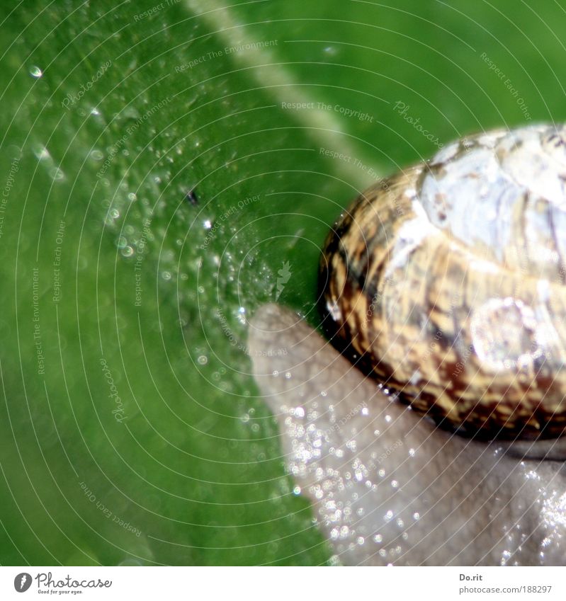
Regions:
[[320, 263], [333, 342], [438, 423], [566, 426], [566, 128], [465, 137], [353, 202]]

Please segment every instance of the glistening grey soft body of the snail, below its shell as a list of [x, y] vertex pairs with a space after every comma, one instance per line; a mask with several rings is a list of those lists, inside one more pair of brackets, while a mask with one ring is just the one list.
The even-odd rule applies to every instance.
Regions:
[[276, 305], [251, 321], [249, 353], [285, 463], [341, 563], [566, 563], [562, 462], [434, 428]]

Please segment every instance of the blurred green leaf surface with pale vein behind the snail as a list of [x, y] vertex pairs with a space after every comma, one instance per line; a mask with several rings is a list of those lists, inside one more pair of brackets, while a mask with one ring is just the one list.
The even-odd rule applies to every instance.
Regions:
[[317, 324], [329, 224], [370, 169], [436, 151], [395, 103], [443, 143], [562, 120], [565, 9], [24, 1], [0, 22], [0, 563], [332, 563], [245, 318], [288, 261], [278, 302]]

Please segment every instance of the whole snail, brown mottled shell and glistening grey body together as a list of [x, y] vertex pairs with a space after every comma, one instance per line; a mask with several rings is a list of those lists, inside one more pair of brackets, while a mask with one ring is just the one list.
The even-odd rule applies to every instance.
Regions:
[[336, 562], [566, 562], [565, 136], [467, 137], [361, 195], [324, 245], [332, 343], [276, 304], [249, 322]]

